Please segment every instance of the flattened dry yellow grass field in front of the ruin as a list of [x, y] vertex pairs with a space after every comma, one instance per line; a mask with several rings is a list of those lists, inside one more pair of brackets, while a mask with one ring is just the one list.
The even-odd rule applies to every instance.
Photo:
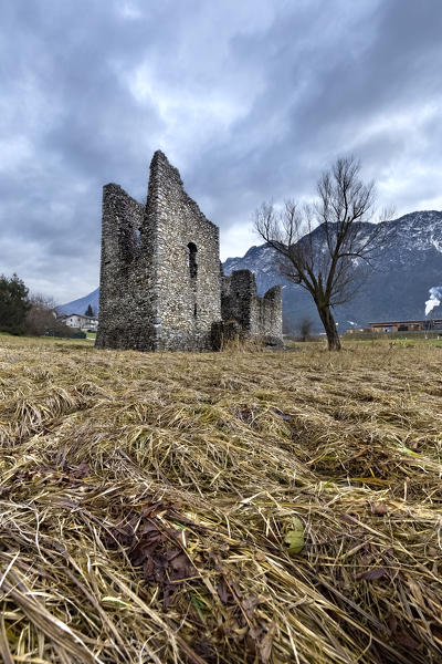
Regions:
[[1, 336], [0, 397], [7, 664], [442, 661], [442, 347]]

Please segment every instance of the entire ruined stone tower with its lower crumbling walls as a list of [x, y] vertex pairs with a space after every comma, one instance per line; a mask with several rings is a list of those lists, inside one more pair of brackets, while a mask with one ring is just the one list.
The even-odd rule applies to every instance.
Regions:
[[161, 152], [146, 205], [115, 184], [103, 189], [98, 347], [203, 351], [213, 329], [282, 341], [281, 287], [257, 298], [249, 270], [220, 271], [219, 229], [185, 191]]

